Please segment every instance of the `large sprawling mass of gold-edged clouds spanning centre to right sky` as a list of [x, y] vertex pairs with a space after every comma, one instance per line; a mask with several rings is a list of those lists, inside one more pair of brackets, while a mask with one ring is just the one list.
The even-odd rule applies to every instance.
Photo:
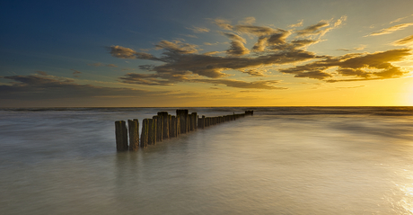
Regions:
[[[239, 71], [250, 77], [263, 77], [262, 67], [279, 67], [279, 72], [294, 77], [312, 78], [325, 82], [375, 80], [404, 76], [407, 72], [392, 62], [411, 55], [411, 49], [393, 49], [376, 53], [349, 53], [343, 56], [319, 56], [306, 48], [321, 42], [321, 37], [343, 25], [347, 16], [337, 20], [321, 21], [301, 30], [283, 30], [268, 26], [252, 25], [255, 19], [248, 19], [232, 25], [223, 19], [213, 22], [222, 30], [218, 31], [231, 42], [223, 50], [199, 53], [197, 45], [181, 40], [161, 40], [155, 45], [162, 49], [161, 57], [136, 52], [120, 46], [110, 47], [110, 54], [116, 58], [145, 58], [163, 62], [158, 66], [139, 67], [147, 74], [128, 73], [119, 81], [136, 85], [174, 85], [180, 82], [200, 82], [231, 87], [256, 87], [259, 89], [279, 89], [279, 81], [266, 80], [244, 82], [229, 79], [227, 70]], [[295, 24], [298, 26], [301, 22]], [[294, 25], [294, 26], [295, 26]], [[253, 46], [244, 36], [253, 41]], [[409, 38], [398, 43], [409, 41]], [[209, 45], [209, 44], [207, 44]], [[365, 46], [353, 50], [364, 49]], [[351, 49], [345, 49], [347, 51]], [[226, 54], [226, 55], [225, 55]], [[306, 61], [311, 63], [303, 64]], [[289, 64], [300, 65], [288, 67]]]

